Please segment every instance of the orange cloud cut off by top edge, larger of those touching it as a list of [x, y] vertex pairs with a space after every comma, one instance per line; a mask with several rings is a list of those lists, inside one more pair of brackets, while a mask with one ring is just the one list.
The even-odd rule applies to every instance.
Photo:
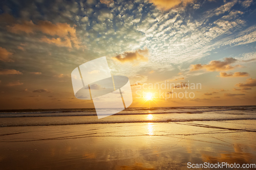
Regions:
[[168, 10], [178, 5], [184, 5], [193, 3], [194, 0], [150, 0], [157, 8], [162, 10]]

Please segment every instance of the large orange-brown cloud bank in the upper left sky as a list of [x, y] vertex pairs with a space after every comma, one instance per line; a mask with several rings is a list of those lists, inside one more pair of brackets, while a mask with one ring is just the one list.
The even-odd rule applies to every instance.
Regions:
[[57, 46], [66, 46], [72, 48], [73, 46], [77, 49], [80, 48], [80, 41], [78, 40], [76, 36], [76, 29], [75, 25], [71, 27], [68, 23], [52, 23], [50, 21], [38, 21], [38, 24], [35, 25], [33, 21], [23, 21], [22, 24], [16, 23], [13, 26], [7, 26], [8, 31], [12, 33], [31, 33], [34, 34], [35, 32], [39, 31], [47, 35], [51, 36], [59, 36], [65, 41], [62, 41], [61, 38], [47, 38], [46, 36], [41, 38], [41, 41], [55, 44]]

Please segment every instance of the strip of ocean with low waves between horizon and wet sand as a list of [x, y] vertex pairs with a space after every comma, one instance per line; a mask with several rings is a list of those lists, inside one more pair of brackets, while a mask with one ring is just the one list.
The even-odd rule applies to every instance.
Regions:
[[245, 120], [255, 113], [256, 106], [126, 108], [98, 119], [95, 109], [0, 110], [0, 127]]

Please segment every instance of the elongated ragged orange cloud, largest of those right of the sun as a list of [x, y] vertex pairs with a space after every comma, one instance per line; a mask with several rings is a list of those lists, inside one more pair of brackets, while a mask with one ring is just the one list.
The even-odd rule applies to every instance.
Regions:
[[241, 66], [241, 65], [235, 65], [235, 66], [230, 65], [235, 62], [237, 62], [237, 59], [230, 57], [230, 58], [224, 58], [224, 61], [212, 60], [209, 62], [209, 64], [204, 64], [204, 65], [191, 64], [190, 71], [197, 71], [197, 70], [201, 70], [201, 69], [206, 69], [206, 71], [226, 71], [226, 70], [234, 69], [236, 67]]

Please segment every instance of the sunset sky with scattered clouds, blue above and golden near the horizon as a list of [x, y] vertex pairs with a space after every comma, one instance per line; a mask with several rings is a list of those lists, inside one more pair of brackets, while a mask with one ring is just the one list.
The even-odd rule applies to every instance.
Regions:
[[103, 56], [130, 107], [255, 105], [255, 16], [252, 0], [1, 1], [0, 109], [93, 108], [71, 72]]

